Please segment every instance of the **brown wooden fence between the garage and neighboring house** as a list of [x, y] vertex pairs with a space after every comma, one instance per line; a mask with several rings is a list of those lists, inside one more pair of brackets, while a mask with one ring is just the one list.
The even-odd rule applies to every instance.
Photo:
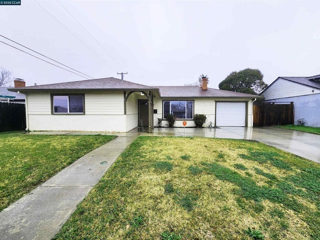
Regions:
[[286, 124], [294, 124], [293, 102], [263, 102], [253, 105], [253, 126]]

